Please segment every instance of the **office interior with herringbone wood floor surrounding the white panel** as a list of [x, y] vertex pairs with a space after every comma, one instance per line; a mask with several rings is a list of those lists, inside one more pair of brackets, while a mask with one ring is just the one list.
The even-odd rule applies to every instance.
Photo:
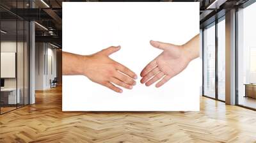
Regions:
[[152, 1], [200, 4], [198, 112], [63, 112], [64, 2], [0, 1], [0, 142], [256, 142], [255, 0]]

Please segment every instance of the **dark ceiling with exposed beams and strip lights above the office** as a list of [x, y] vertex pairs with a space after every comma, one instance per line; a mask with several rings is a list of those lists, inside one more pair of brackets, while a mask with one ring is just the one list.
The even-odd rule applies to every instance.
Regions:
[[[88, 2], [96, 0], [1, 0], [1, 20], [12, 31], [12, 20], [35, 20], [36, 41], [56, 43], [61, 46], [62, 2]], [[100, 1], [100, 0], [99, 0]], [[102, 0], [104, 1], [104, 0]], [[105, 0], [106, 2], [108, 0]], [[118, 1], [118, 0], [116, 0]], [[129, 0], [135, 1], [135, 0]], [[248, 0], [162, 0], [163, 2], [200, 2], [200, 27], [211, 22], [211, 17], [221, 10], [239, 6]], [[126, 1], [125, 1], [126, 2]], [[33, 7], [33, 8], [32, 8]], [[225, 14], [225, 12], [224, 12]], [[214, 20], [214, 19], [213, 19]], [[9, 23], [9, 24], [8, 24]], [[40, 26], [41, 25], [41, 26]], [[43, 26], [43, 27], [42, 27]], [[5, 26], [4, 26], [5, 27]], [[45, 29], [45, 28], [47, 29]], [[19, 32], [18, 32], [19, 33]]]

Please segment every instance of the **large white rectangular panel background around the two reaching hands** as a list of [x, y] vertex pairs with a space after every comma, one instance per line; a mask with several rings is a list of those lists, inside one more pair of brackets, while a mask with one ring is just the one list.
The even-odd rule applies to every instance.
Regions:
[[[199, 33], [199, 3], [63, 3], [63, 51], [93, 54], [121, 45], [111, 55], [138, 77], [162, 51], [150, 40], [183, 44]], [[63, 76], [63, 111], [199, 110], [200, 59], [164, 86], [115, 93], [84, 76]]]

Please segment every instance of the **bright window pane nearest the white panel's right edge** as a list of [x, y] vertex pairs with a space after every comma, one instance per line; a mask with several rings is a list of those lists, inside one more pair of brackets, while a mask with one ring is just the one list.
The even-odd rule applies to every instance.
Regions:
[[204, 29], [204, 95], [215, 98], [215, 26]]

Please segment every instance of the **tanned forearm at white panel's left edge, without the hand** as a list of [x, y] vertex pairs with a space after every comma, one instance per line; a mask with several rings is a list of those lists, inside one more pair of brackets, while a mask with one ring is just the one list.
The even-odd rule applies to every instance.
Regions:
[[86, 56], [62, 52], [63, 75], [84, 75]]

